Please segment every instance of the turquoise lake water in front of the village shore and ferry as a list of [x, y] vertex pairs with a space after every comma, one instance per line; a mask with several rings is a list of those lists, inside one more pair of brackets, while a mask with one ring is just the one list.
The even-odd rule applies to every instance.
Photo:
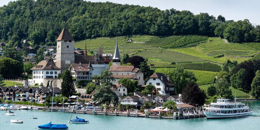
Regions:
[[[243, 102], [247, 103], [247, 102]], [[89, 120], [89, 124], [71, 124], [68, 123], [71, 113], [53, 112], [53, 124], [66, 124], [70, 130], [85, 130], [85, 129], [217, 129], [217, 130], [240, 130], [240, 129], [260, 129], [260, 101], [248, 101], [249, 107], [254, 111], [252, 116], [244, 116], [239, 118], [227, 119], [209, 119], [206, 118], [191, 118], [191, 119], [158, 119], [158, 118], [136, 118], [125, 116], [104, 116], [92, 114], [77, 114], [79, 118]], [[16, 110], [16, 118], [21, 118], [23, 124], [10, 123], [10, 119], [14, 116], [5, 116], [5, 111], [0, 111], [3, 115], [0, 116], [0, 129], [14, 130], [31, 130], [38, 125], [43, 125], [50, 122], [51, 112], [40, 112], [38, 110]], [[38, 119], [32, 119], [33, 117]], [[31, 117], [31, 119], [29, 119]], [[75, 118], [73, 114], [72, 118]], [[7, 121], [7, 123], [5, 123]]]

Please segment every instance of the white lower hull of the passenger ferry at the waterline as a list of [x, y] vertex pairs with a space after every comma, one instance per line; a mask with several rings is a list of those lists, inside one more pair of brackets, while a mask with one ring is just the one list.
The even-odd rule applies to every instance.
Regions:
[[240, 116], [248, 116], [252, 115], [253, 111], [251, 112], [245, 112], [245, 113], [234, 113], [234, 114], [219, 114], [214, 113], [211, 114], [211, 112], [205, 112], [205, 115], [207, 116], [207, 119], [220, 119], [220, 118], [232, 118], [232, 117], [240, 117]]

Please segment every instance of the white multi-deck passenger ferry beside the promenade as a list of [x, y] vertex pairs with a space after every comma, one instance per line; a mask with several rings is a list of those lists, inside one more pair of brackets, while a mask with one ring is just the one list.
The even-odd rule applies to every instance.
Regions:
[[217, 103], [211, 103], [206, 107], [205, 115], [207, 119], [231, 118], [251, 115], [253, 111], [249, 109], [248, 104], [241, 102], [229, 102], [229, 99], [218, 98]]

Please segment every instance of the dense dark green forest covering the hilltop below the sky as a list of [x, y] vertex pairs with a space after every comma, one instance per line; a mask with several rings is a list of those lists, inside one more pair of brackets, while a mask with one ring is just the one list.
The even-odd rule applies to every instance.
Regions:
[[187, 10], [159, 10], [139, 5], [83, 0], [17, 0], [0, 7], [0, 42], [32, 47], [55, 45], [62, 28], [75, 40], [146, 34], [154, 36], [203, 35], [229, 42], [260, 42], [260, 25], [247, 19], [233, 21], [223, 16]]

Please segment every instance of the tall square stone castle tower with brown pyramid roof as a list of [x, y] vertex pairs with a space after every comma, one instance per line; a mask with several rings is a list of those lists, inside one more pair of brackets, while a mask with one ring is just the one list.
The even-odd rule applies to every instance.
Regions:
[[64, 28], [57, 38], [56, 66], [61, 69], [61, 73], [70, 64], [74, 63], [74, 43], [75, 39], [71, 36], [67, 28]]

